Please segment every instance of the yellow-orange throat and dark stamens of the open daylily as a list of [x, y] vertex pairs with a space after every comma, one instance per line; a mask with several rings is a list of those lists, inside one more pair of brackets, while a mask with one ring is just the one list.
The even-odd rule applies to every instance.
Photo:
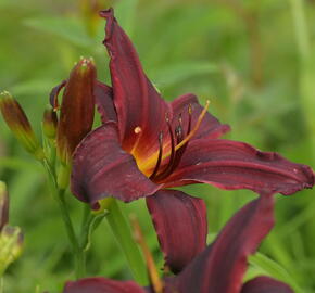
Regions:
[[[139, 164], [139, 169], [148, 176], [152, 181], [160, 182], [169, 176], [175, 168], [178, 166], [181, 156], [188, 145], [189, 140], [194, 136], [197, 130], [199, 129], [201, 122], [206, 114], [210, 102], [206, 101], [206, 104], [202, 112], [200, 113], [193, 128], [191, 129], [191, 116], [192, 116], [192, 107], [189, 105], [188, 107], [188, 125], [186, 131], [182, 129], [182, 119], [181, 115], [178, 118], [178, 125], [173, 130], [173, 127], [169, 123], [168, 117], [166, 116], [166, 124], [169, 133], [171, 148], [168, 144], [163, 143], [163, 132], [160, 132], [159, 136], [159, 150], [150, 156], [142, 164]], [[135, 128], [136, 131], [137, 128]], [[186, 132], [186, 135], [185, 135]], [[165, 152], [165, 150], [167, 150]], [[165, 153], [164, 153], [165, 152]], [[166, 161], [166, 163], [165, 163]], [[153, 169], [153, 171], [152, 171]]]

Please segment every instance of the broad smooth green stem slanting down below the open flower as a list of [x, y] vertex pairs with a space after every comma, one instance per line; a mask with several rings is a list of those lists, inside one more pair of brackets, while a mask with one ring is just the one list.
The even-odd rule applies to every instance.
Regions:
[[117, 242], [125, 253], [135, 280], [141, 285], [147, 285], [148, 277], [142, 255], [133, 238], [130, 227], [116, 200], [112, 200], [108, 209], [109, 214], [106, 215], [106, 219]]

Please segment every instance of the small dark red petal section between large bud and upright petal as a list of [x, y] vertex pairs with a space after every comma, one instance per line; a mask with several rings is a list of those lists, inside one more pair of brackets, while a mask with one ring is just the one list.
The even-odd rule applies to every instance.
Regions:
[[97, 81], [94, 95], [102, 123], [116, 122], [117, 114], [113, 102], [113, 89], [105, 84]]

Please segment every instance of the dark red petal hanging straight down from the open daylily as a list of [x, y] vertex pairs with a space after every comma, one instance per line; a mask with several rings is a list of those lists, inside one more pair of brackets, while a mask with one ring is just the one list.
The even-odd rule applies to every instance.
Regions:
[[165, 264], [179, 272], [205, 249], [206, 207], [201, 199], [176, 190], [160, 190], [147, 198]]

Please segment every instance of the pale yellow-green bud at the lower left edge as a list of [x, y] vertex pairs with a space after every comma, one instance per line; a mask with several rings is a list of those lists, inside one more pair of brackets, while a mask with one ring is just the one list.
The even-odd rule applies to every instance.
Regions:
[[0, 233], [0, 276], [22, 253], [23, 234], [18, 227], [4, 226]]

